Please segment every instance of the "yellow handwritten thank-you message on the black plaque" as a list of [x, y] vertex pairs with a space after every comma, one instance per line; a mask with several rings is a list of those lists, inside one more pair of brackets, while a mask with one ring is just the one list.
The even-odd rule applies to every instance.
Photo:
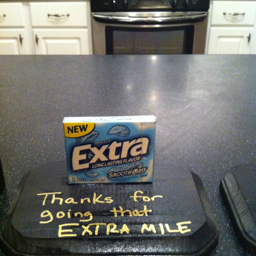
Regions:
[[[129, 145], [128, 145], [129, 146]], [[114, 155], [113, 155], [114, 157]], [[44, 196], [44, 199], [42, 201], [42, 205], [44, 206], [46, 204], [46, 201], [51, 204], [59, 204], [62, 205], [63, 202], [65, 204], [84, 204], [84, 203], [92, 203], [92, 204], [111, 204], [114, 200], [112, 199], [111, 196], [103, 197], [102, 194], [97, 194], [96, 192], [93, 193], [92, 197], [86, 197], [82, 198], [80, 200], [75, 200], [74, 198], [62, 198], [58, 197], [59, 194], [62, 194], [62, 192], [52, 192], [52, 193], [42, 193], [42, 194], [37, 194], [38, 196]], [[134, 192], [130, 198], [134, 202], [150, 202], [150, 201], [155, 201], [156, 198], [162, 198], [163, 196], [161, 195], [155, 195], [155, 196], [147, 196], [144, 194], [143, 191], [137, 190]], [[103, 199], [104, 198], [104, 199]], [[138, 204], [139, 204], [138, 203]], [[144, 203], [143, 203], [144, 204]], [[145, 203], [146, 204], [146, 203]], [[152, 203], [153, 204], [153, 203]], [[71, 208], [72, 206], [68, 206], [68, 208]], [[91, 205], [93, 208], [93, 205]], [[79, 209], [79, 207], [76, 207]], [[148, 209], [146, 205], [139, 205], [139, 207], [136, 207], [136, 209], [127, 209], [126, 207], [119, 206], [119, 208], [113, 207], [110, 209], [110, 212], [112, 212], [112, 217], [118, 217], [118, 216], [128, 216], [128, 217], [141, 217], [141, 216], [148, 216], [152, 210]], [[54, 218], [74, 218], [78, 217], [80, 218], [80, 222], [90, 222], [93, 219], [93, 215], [90, 211], [87, 212], [73, 212], [72, 208], [66, 211], [59, 211], [59, 212], [50, 212], [49, 210], [45, 210], [41, 213], [40, 217], [42, 218], [41, 221], [39, 222], [40, 224], [47, 224], [50, 223], [54, 220]], [[126, 218], [125, 218], [126, 219]], [[144, 222], [144, 221], [143, 221]], [[143, 223], [142, 222], [142, 223]], [[148, 219], [148, 223], [143, 223], [142, 226], [140, 226], [140, 232], [141, 234], [147, 233], [147, 232], [152, 232], [154, 234], [162, 234], [164, 235], [165, 232], [168, 233], [174, 233], [174, 232], [179, 232], [181, 234], [184, 234], [186, 232], [191, 232], [191, 229], [188, 227], [189, 224], [191, 224], [191, 221], [185, 221], [185, 222], [177, 222], [176, 223], [176, 229], [172, 229], [169, 224], [165, 223], [154, 223], [151, 224], [152, 221], [150, 218]], [[174, 222], [175, 223], [175, 222]], [[172, 222], [172, 225], [174, 225]], [[84, 223], [82, 223], [84, 224]], [[77, 232], [78, 228], [80, 229], [80, 234], [82, 233], [82, 236], [98, 236], [99, 231], [100, 234], [105, 233], [105, 235], [109, 236], [111, 234], [129, 234], [130, 229], [126, 224], [120, 224], [118, 226], [115, 223], [87, 223], [87, 225], [82, 225], [81, 223], [67, 223], [67, 224], [61, 224], [58, 226], [58, 236], [59, 237], [73, 237], [77, 236], [75, 234], [75, 231]], [[122, 226], [121, 226], [122, 225]], [[158, 226], [159, 225], [159, 226]], [[77, 227], [78, 228], [75, 228]], [[100, 226], [106, 226], [106, 227], [100, 227]], [[68, 228], [70, 227], [70, 228]], [[122, 228], [121, 228], [122, 227]]]

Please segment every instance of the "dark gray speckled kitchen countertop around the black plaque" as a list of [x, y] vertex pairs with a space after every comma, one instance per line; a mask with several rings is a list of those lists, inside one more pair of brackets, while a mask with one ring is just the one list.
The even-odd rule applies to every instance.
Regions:
[[251, 255], [219, 184], [233, 166], [256, 162], [255, 66], [252, 55], [0, 56], [0, 224], [28, 170], [65, 160], [64, 116], [153, 114], [154, 175], [198, 174], [220, 229], [211, 255]]

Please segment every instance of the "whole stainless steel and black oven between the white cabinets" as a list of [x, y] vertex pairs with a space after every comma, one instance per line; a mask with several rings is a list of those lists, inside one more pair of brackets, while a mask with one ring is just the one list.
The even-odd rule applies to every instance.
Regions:
[[210, 0], [91, 0], [94, 54], [204, 54]]

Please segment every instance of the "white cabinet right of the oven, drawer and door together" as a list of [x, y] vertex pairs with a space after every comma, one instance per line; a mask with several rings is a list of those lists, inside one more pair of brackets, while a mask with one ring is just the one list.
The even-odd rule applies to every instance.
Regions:
[[251, 53], [255, 17], [254, 1], [213, 1], [207, 53]]

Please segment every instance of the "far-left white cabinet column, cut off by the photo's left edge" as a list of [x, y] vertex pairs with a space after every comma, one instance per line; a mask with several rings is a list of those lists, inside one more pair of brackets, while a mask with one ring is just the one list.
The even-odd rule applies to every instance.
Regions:
[[0, 3], [0, 54], [27, 54], [21, 3]]

